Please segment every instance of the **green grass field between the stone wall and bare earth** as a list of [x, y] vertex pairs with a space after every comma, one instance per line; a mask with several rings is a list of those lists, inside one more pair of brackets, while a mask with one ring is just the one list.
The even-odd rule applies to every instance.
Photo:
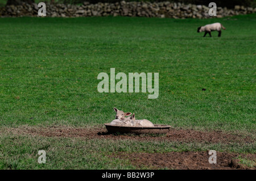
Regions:
[[[216, 20], [226, 28], [222, 37], [196, 32]], [[0, 24], [0, 169], [134, 169], [128, 161], [110, 159], [113, 151], [256, 153], [255, 142], [202, 145], [5, 132], [24, 125], [103, 127], [117, 107], [175, 129], [255, 138], [255, 14], [204, 20], [1, 18]], [[97, 75], [110, 74], [110, 68], [116, 74], [159, 73], [158, 98], [98, 92]], [[37, 163], [40, 149], [47, 151], [47, 164]]]

